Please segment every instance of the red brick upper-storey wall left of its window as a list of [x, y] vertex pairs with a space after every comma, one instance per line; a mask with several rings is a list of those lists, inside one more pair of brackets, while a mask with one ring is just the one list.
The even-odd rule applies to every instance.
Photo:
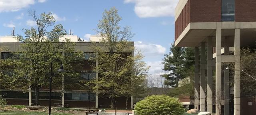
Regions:
[[221, 22], [221, 0], [188, 0], [175, 21], [175, 40], [190, 22]]

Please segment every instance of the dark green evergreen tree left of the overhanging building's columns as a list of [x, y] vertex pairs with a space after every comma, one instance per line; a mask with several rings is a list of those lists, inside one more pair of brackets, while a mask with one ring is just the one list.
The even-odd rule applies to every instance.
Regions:
[[178, 82], [191, 75], [190, 70], [194, 64], [194, 49], [175, 47], [172, 44], [170, 53], [164, 55], [164, 71], [162, 75], [166, 78], [165, 84], [171, 87], [178, 87]]

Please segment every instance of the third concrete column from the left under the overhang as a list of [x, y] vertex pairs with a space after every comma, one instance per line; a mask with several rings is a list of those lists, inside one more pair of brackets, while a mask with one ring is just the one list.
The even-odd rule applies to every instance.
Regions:
[[207, 111], [212, 113], [212, 38], [207, 44]]

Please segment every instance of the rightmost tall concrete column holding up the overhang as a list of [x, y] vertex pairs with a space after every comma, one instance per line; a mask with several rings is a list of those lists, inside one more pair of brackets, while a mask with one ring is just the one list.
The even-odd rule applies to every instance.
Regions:
[[240, 115], [240, 29], [235, 29], [234, 115]]

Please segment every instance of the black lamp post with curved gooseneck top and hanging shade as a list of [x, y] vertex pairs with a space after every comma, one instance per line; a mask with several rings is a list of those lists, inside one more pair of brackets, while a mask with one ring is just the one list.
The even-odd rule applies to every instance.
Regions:
[[64, 67], [62, 66], [62, 61], [60, 59], [53, 59], [51, 62], [51, 72], [50, 72], [49, 115], [51, 115], [51, 101], [52, 101], [52, 63], [55, 60], [60, 61], [60, 69], [58, 69], [57, 72], [65, 72]]

